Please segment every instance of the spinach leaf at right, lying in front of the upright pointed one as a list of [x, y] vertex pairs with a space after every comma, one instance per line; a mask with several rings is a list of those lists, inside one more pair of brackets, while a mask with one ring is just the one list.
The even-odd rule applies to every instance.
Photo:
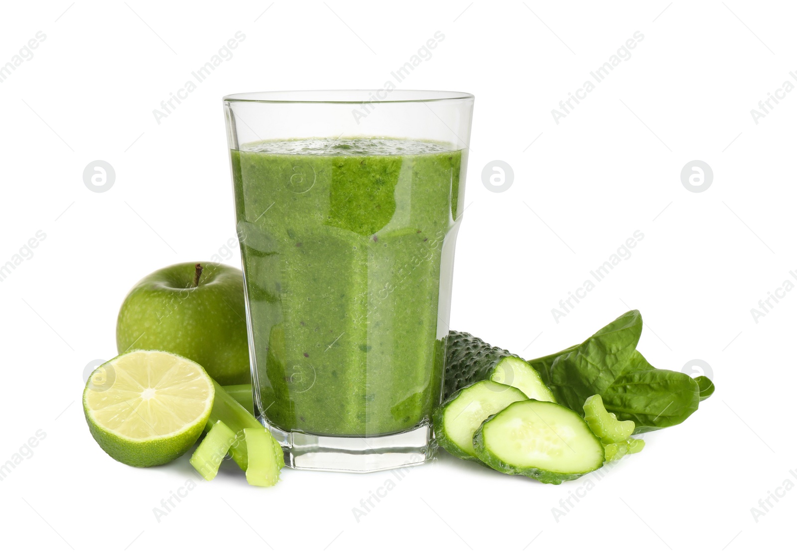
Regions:
[[651, 367], [634, 353], [630, 370], [601, 392], [606, 409], [621, 421], [634, 421], [634, 433], [684, 422], [700, 402], [698, 383], [684, 373]]

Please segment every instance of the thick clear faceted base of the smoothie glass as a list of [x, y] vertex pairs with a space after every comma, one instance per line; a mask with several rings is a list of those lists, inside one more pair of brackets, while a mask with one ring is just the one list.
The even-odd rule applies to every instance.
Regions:
[[434, 454], [429, 422], [404, 432], [376, 437], [317, 436], [298, 431], [270, 429], [285, 449], [285, 465], [292, 469], [336, 473], [373, 473], [422, 465]]

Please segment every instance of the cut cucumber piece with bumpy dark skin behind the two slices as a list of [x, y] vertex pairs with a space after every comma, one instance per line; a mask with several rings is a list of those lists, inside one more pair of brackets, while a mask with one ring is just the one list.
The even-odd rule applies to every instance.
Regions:
[[520, 389], [528, 398], [554, 401], [539, 373], [529, 363], [467, 332], [450, 331], [446, 342], [443, 400], [481, 380], [494, 380]]

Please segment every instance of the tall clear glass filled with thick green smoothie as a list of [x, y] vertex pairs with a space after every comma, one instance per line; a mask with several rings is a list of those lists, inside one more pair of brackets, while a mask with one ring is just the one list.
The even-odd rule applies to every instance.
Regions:
[[224, 98], [257, 418], [295, 469], [434, 453], [473, 96]]

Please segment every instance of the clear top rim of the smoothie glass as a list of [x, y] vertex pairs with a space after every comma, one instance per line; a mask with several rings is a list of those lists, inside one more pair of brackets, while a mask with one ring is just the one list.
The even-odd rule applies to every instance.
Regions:
[[233, 102], [256, 102], [263, 104], [406, 104], [412, 102], [473, 100], [473, 94], [469, 92], [443, 90], [351, 88], [239, 92], [236, 94], [228, 94], [224, 96], [222, 100], [224, 100], [226, 104]]

